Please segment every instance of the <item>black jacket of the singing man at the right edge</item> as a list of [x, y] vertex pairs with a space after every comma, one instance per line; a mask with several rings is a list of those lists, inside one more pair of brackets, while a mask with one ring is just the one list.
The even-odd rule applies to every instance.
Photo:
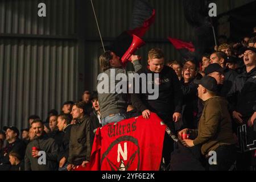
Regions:
[[228, 101], [231, 111], [238, 111], [246, 119], [251, 117], [254, 113], [253, 107], [256, 105], [256, 68], [236, 77], [228, 93]]

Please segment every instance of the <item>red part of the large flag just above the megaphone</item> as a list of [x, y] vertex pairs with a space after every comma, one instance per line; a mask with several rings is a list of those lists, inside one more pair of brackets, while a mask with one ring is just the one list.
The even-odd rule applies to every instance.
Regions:
[[155, 10], [152, 11], [152, 15], [150, 18], [146, 19], [141, 27], [134, 28], [133, 30], [127, 31], [131, 36], [134, 34], [139, 38], [142, 38], [146, 31], [151, 26], [152, 23], [155, 22]]

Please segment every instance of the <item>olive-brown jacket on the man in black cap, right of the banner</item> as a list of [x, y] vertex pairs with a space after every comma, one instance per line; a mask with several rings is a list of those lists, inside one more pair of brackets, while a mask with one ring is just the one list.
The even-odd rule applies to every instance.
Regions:
[[198, 130], [192, 131], [196, 136], [193, 144], [201, 146], [201, 153], [207, 155], [221, 145], [236, 143], [232, 134], [232, 121], [228, 111], [228, 102], [223, 97], [214, 96], [205, 101]]

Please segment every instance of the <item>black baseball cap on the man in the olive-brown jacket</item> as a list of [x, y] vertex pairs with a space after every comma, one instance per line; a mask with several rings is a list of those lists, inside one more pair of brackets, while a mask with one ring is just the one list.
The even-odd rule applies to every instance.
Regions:
[[198, 85], [200, 84], [212, 92], [217, 92], [218, 90], [217, 81], [211, 76], [204, 76], [200, 80], [194, 80], [194, 83]]

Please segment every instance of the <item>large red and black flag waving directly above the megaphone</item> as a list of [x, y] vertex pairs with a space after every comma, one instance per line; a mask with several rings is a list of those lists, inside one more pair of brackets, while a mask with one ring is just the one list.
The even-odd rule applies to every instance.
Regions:
[[155, 9], [145, 0], [136, 0], [134, 3], [130, 30], [123, 31], [106, 49], [114, 51], [122, 57], [133, 41], [133, 34], [142, 38], [151, 24], [155, 22]]

